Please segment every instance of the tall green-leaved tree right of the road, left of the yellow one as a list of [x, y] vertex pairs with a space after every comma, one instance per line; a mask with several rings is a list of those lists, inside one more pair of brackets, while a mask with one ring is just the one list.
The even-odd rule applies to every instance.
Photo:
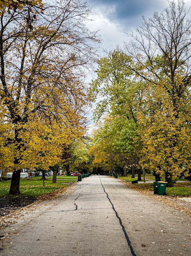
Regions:
[[[91, 93], [101, 100], [97, 103], [94, 111], [95, 119], [109, 112], [109, 117], [102, 128], [102, 136], [105, 131], [109, 141], [106, 143], [107, 150], [116, 149], [115, 154], [120, 154], [123, 167], [132, 167], [132, 177], [134, 168], [138, 169], [139, 180], [141, 172], [139, 167], [139, 143], [137, 110], [142, 99], [142, 81], [136, 78], [132, 70], [126, 67], [123, 62], [131, 64], [131, 58], [118, 51], [108, 53], [98, 61], [99, 67], [95, 71], [97, 78], [91, 83]], [[112, 130], [112, 132], [111, 132]], [[112, 137], [113, 136], [113, 137]], [[100, 146], [99, 146], [100, 147]], [[102, 148], [102, 147], [100, 147]], [[101, 154], [98, 154], [101, 156]]]

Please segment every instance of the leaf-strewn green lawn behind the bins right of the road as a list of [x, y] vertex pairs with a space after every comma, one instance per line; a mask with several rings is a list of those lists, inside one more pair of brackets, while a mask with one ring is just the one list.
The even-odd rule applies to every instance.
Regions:
[[[149, 176], [146, 176], [146, 179]], [[131, 182], [133, 180], [137, 180], [137, 178], [131, 178], [131, 175], [128, 175], [127, 177], [120, 177], [122, 180], [125, 180], [127, 182]], [[154, 179], [155, 180], [155, 179]], [[182, 180], [181, 180], [182, 181]], [[131, 185], [131, 188], [134, 188], [136, 190], [151, 190], [154, 191], [153, 183], [139, 183], [139, 184], [133, 184]], [[189, 197], [191, 196], [191, 182], [177, 182], [173, 187], [167, 187], [166, 188], [167, 196], [172, 197]]]

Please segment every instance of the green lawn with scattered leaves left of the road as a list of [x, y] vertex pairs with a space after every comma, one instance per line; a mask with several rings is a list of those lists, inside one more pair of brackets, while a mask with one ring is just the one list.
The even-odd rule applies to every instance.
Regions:
[[[57, 183], [52, 183], [52, 178], [47, 177], [45, 180], [45, 187], [42, 186], [42, 177], [33, 177], [29, 180], [25, 178], [20, 179], [20, 195], [9, 195], [11, 181], [0, 182], [0, 197], [29, 197], [37, 198], [49, 192], [53, 192], [60, 188], [68, 187], [67, 183], [76, 182], [76, 177], [65, 176], [57, 177]], [[70, 179], [70, 180], [67, 180]]]

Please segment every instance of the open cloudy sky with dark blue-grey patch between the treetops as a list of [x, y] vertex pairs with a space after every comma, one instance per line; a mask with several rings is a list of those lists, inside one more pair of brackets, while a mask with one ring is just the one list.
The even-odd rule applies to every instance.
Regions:
[[[152, 14], [162, 12], [168, 6], [167, 0], [87, 0], [92, 7], [94, 20], [89, 23], [92, 30], [100, 30], [102, 48], [115, 49], [128, 41], [124, 32], [136, 30], [141, 25], [142, 15], [152, 17]], [[191, 0], [185, 0], [188, 8]]]

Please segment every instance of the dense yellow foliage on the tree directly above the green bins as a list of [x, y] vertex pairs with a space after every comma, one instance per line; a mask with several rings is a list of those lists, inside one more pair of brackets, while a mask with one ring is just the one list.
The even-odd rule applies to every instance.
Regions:
[[[178, 177], [183, 167], [189, 165], [191, 140], [186, 118], [177, 118], [172, 99], [159, 87], [150, 87], [149, 95], [144, 98], [147, 112], [139, 111], [139, 135], [142, 141], [140, 164], [150, 170], [161, 167], [163, 172]], [[188, 145], [189, 144], [189, 145]]]

